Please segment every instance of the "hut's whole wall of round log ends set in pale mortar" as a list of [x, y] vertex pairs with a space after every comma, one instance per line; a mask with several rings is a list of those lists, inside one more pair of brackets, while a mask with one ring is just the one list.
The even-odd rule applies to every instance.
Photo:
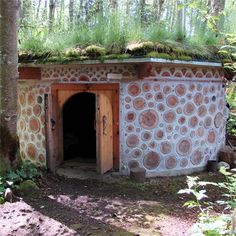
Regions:
[[[122, 80], [108, 80], [107, 74]], [[201, 169], [225, 141], [225, 88], [215, 69], [153, 65], [138, 79], [134, 65], [45, 67], [42, 81], [20, 83], [18, 134], [25, 158], [45, 165], [44, 96], [50, 84], [120, 83], [120, 170], [149, 176]]]

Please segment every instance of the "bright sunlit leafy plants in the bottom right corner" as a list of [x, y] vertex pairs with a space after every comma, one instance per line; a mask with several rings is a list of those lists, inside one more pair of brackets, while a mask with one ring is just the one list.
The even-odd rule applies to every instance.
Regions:
[[[232, 170], [233, 171], [233, 170]], [[236, 171], [236, 170], [234, 170]], [[236, 207], [236, 174], [221, 169], [220, 172], [225, 176], [225, 181], [221, 183], [200, 181], [199, 177], [187, 177], [188, 188], [180, 190], [179, 194], [190, 194], [195, 200], [188, 201], [184, 204], [189, 208], [197, 207], [200, 211], [198, 222], [191, 229], [191, 235], [221, 236], [235, 235], [232, 232], [231, 215]], [[215, 186], [223, 189], [222, 200], [210, 202], [206, 191], [206, 186]], [[225, 206], [221, 214], [211, 214], [216, 206]], [[225, 214], [225, 210], [230, 214]]]

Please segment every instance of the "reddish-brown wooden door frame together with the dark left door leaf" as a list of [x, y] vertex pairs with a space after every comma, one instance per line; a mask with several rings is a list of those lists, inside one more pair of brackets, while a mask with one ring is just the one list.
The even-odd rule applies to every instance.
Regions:
[[99, 90], [112, 91], [112, 113], [113, 113], [113, 168], [119, 170], [119, 90], [118, 83], [111, 84], [52, 84], [51, 97], [48, 99], [48, 111], [46, 112], [47, 124], [47, 165], [52, 171], [64, 161], [63, 157], [63, 132], [62, 132], [62, 110], [59, 107], [59, 91], [76, 91], [99, 93]]

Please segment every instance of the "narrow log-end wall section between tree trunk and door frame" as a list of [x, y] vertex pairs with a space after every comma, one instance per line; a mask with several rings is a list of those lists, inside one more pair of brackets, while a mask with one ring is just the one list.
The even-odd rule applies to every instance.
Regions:
[[18, 91], [17, 133], [21, 156], [37, 165], [45, 166], [45, 95], [50, 94], [50, 84], [19, 83]]

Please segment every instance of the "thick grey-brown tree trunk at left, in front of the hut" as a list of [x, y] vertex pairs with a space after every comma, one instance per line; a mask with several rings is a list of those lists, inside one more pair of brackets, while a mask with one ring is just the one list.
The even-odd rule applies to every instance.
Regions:
[[[17, 151], [17, 0], [0, 1], [0, 171]], [[10, 30], [9, 30], [10, 29]]]

